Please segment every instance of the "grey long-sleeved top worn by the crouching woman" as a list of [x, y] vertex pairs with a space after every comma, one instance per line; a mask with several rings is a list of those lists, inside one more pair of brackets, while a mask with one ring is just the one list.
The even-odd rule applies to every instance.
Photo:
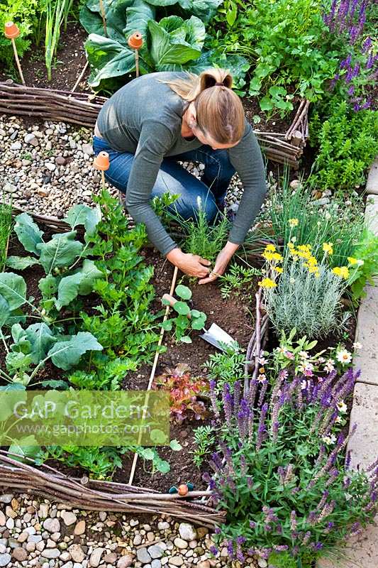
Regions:
[[[177, 244], [162, 226], [150, 205], [150, 195], [165, 156], [174, 156], [201, 146], [181, 135], [186, 101], [159, 80], [183, 77], [181, 72], [158, 72], [138, 77], [119, 89], [102, 107], [97, 126], [111, 148], [135, 154], [128, 179], [126, 207], [147, 227], [148, 238], [166, 255]], [[260, 147], [245, 121], [243, 138], [228, 149], [230, 162], [243, 182], [244, 192], [228, 240], [241, 244], [265, 197], [265, 168]]]

